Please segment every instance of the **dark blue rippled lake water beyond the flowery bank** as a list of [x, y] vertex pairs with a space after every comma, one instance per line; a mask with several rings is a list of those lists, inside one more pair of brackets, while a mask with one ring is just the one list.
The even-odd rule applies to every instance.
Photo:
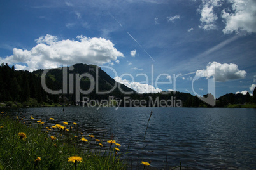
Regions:
[[[120, 143], [132, 164], [157, 169], [255, 169], [256, 110], [246, 108], [87, 107], [25, 108], [35, 119], [77, 122], [85, 133]], [[153, 110], [152, 117], [145, 130]], [[129, 150], [128, 150], [129, 147]], [[167, 162], [166, 162], [167, 160]], [[139, 163], [137, 162], [139, 161]]]

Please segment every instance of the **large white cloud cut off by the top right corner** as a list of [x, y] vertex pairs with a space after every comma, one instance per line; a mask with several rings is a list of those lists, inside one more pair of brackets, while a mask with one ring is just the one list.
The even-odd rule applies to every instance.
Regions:
[[[225, 19], [224, 34], [232, 32], [256, 32], [256, 1], [255, 0], [229, 0], [232, 9], [222, 10]], [[231, 12], [232, 11], [232, 12]]]

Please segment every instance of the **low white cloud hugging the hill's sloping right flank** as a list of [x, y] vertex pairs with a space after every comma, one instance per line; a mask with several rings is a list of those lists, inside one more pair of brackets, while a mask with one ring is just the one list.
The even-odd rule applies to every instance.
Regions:
[[138, 93], [159, 93], [162, 91], [162, 89], [155, 88], [151, 85], [141, 84], [139, 82], [131, 82], [126, 79], [122, 79], [121, 77], [115, 77], [114, 79], [115, 79], [115, 81], [117, 81], [121, 84], [124, 84], [128, 88], [131, 88], [131, 89], [137, 91]]

